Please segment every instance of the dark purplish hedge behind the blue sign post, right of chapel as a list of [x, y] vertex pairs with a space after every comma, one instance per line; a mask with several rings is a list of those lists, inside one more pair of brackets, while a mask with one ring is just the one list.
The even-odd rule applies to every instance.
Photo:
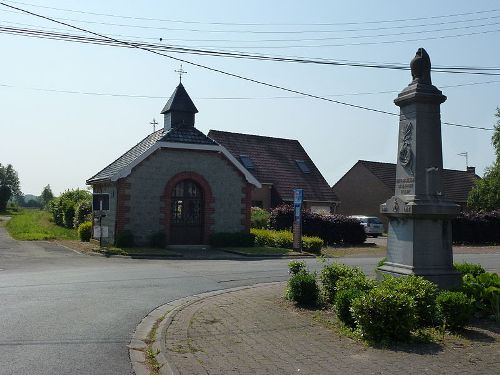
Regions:
[[[269, 225], [274, 230], [290, 230], [293, 224], [293, 207], [282, 205], [271, 211]], [[302, 212], [302, 233], [317, 236], [326, 245], [361, 244], [366, 233], [359, 220], [343, 215], [323, 215], [310, 211]]]

